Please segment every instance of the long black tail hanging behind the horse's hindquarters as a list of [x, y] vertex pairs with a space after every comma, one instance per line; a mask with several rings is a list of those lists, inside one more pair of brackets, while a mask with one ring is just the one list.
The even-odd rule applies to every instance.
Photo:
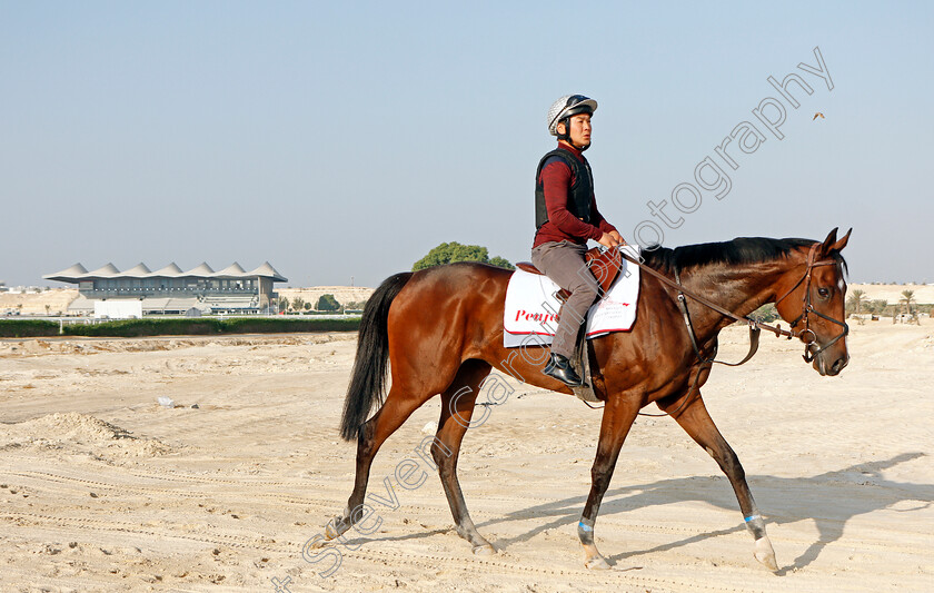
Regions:
[[374, 403], [382, 404], [386, 367], [389, 363], [386, 319], [389, 317], [389, 305], [410, 277], [410, 271], [389, 276], [364, 307], [357, 338], [357, 358], [354, 360], [354, 373], [344, 402], [344, 418], [340, 421], [340, 436], [345, 441], [358, 438]]

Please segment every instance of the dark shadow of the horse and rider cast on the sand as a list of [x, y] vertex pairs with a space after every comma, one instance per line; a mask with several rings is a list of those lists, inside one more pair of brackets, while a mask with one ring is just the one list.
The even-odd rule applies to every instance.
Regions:
[[[915, 503], [910, 508], [900, 508], [900, 512], [918, 511], [931, 506], [934, 502], [934, 484], [912, 484], [906, 482], [892, 482], [882, 477], [882, 471], [895, 465], [925, 456], [925, 453], [903, 453], [890, 459], [861, 463], [851, 465], [843, 470], [825, 472], [809, 477], [776, 477], [776, 476], [747, 476], [753, 487], [759, 508], [766, 516], [766, 524], [784, 524], [801, 521], [802, 516], [811, 516], [817, 530], [818, 537], [796, 557], [791, 565], [784, 567], [779, 574], [807, 566], [821, 554], [821, 551], [829, 543], [841, 538], [846, 523], [857, 516], [874, 511], [888, 508], [898, 503]], [[625, 470], [620, 475], [625, 475]], [[870, 486], [866, 492], [860, 492], [860, 486]], [[846, 487], [844, 493], [841, 486]], [[793, 492], [794, 496], [787, 493]], [[827, 500], [841, 501], [845, 494], [845, 504], [826, 505]], [[650, 484], [633, 484], [610, 488], [604, 496], [600, 505], [600, 516], [627, 513], [638, 508], [655, 505], [672, 504], [679, 502], [706, 502], [721, 508], [739, 513], [739, 506], [733, 490], [725, 476], [709, 477], [680, 477], [673, 480], [660, 480]], [[586, 502], [586, 495], [564, 498], [552, 503], [528, 506], [507, 513], [503, 517], [493, 518], [477, 524], [481, 530], [497, 524], [514, 521], [527, 521], [531, 517], [550, 518], [535, 527], [514, 537], [497, 538], [494, 544], [497, 547], [508, 547], [510, 544], [528, 541], [546, 530], [554, 530], [567, 525], [576, 525], [580, 512]], [[842, 502], [842, 501], [841, 501]], [[813, 516], [814, 508], [821, 506], [821, 516]], [[420, 538], [447, 530], [435, 530], [418, 534], [403, 536], [380, 537], [386, 541], [401, 541]], [[706, 531], [689, 537], [668, 542], [646, 550], [632, 550], [614, 556], [609, 560], [618, 562], [654, 552], [673, 550], [711, 537], [726, 535], [745, 531], [745, 526], [737, 522], [728, 528]], [[355, 543], [366, 543], [364, 540]]]

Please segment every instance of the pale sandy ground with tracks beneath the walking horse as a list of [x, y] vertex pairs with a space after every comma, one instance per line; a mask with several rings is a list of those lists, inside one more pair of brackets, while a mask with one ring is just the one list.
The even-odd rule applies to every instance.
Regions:
[[[756, 358], [705, 387], [778, 574], [753, 559], [726, 478], [664, 417], [637, 421], [602, 507], [614, 570], [584, 569], [576, 524], [600, 412], [515, 383], [460, 461], [497, 555], [454, 533], [435, 475], [414, 490], [394, 477], [424, 464], [436, 398], [372, 468], [370, 492], [397, 507], [376, 504], [371, 535], [302, 557], [351, 488], [356, 449], [336, 427], [355, 339], [0, 342], [0, 591], [934, 590], [931, 320], [854, 325], [835, 378], [763, 336]], [[722, 342], [725, 358], [745, 353], [744, 329]]]

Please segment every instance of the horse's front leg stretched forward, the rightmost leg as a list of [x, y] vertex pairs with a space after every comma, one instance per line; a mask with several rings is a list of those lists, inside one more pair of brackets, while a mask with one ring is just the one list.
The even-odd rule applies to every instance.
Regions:
[[[659, 406], [662, 407], [662, 406]], [[669, 412], [667, 407], [675, 408], [675, 405], [662, 407]], [[743, 512], [743, 517], [746, 521], [746, 528], [753, 534], [755, 538], [755, 550], [753, 554], [771, 571], [777, 571], [778, 564], [775, 561], [775, 551], [772, 548], [772, 542], [765, 533], [765, 521], [756, 508], [756, 503], [753, 500], [753, 494], [749, 492], [749, 485], [746, 484], [746, 473], [743, 466], [739, 465], [739, 459], [736, 453], [721, 435], [713, 418], [707, 413], [707, 407], [697, 394], [680, 412], [672, 411], [675, 421], [688, 435], [702, 447], [714, 461], [717, 462], [723, 473], [729, 478], [733, 485], [733, 491], [736, 493], [736, 500], [739, 501], [739, 510]]]

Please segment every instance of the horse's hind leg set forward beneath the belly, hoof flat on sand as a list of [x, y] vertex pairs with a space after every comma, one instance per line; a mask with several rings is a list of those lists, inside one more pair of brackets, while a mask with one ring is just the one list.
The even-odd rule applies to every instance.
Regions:
[[460, 442], [470, 426], [479, 385], [489, 375], [489, 364], [476, 359], [467, 360], [460, 366], [454, 383], [441, 394], [437, 439], [446, 448], [439, 447], [437, 443], [431, 446], [431, 455], [438, 464], [438, 475], [445, 487], [457, 533], [470, 542], [475, 554], [495, 554], [496, 550], [479, 534], [467, 512], [464, 493], [457, 480], [457, 457], [460, 453]]

